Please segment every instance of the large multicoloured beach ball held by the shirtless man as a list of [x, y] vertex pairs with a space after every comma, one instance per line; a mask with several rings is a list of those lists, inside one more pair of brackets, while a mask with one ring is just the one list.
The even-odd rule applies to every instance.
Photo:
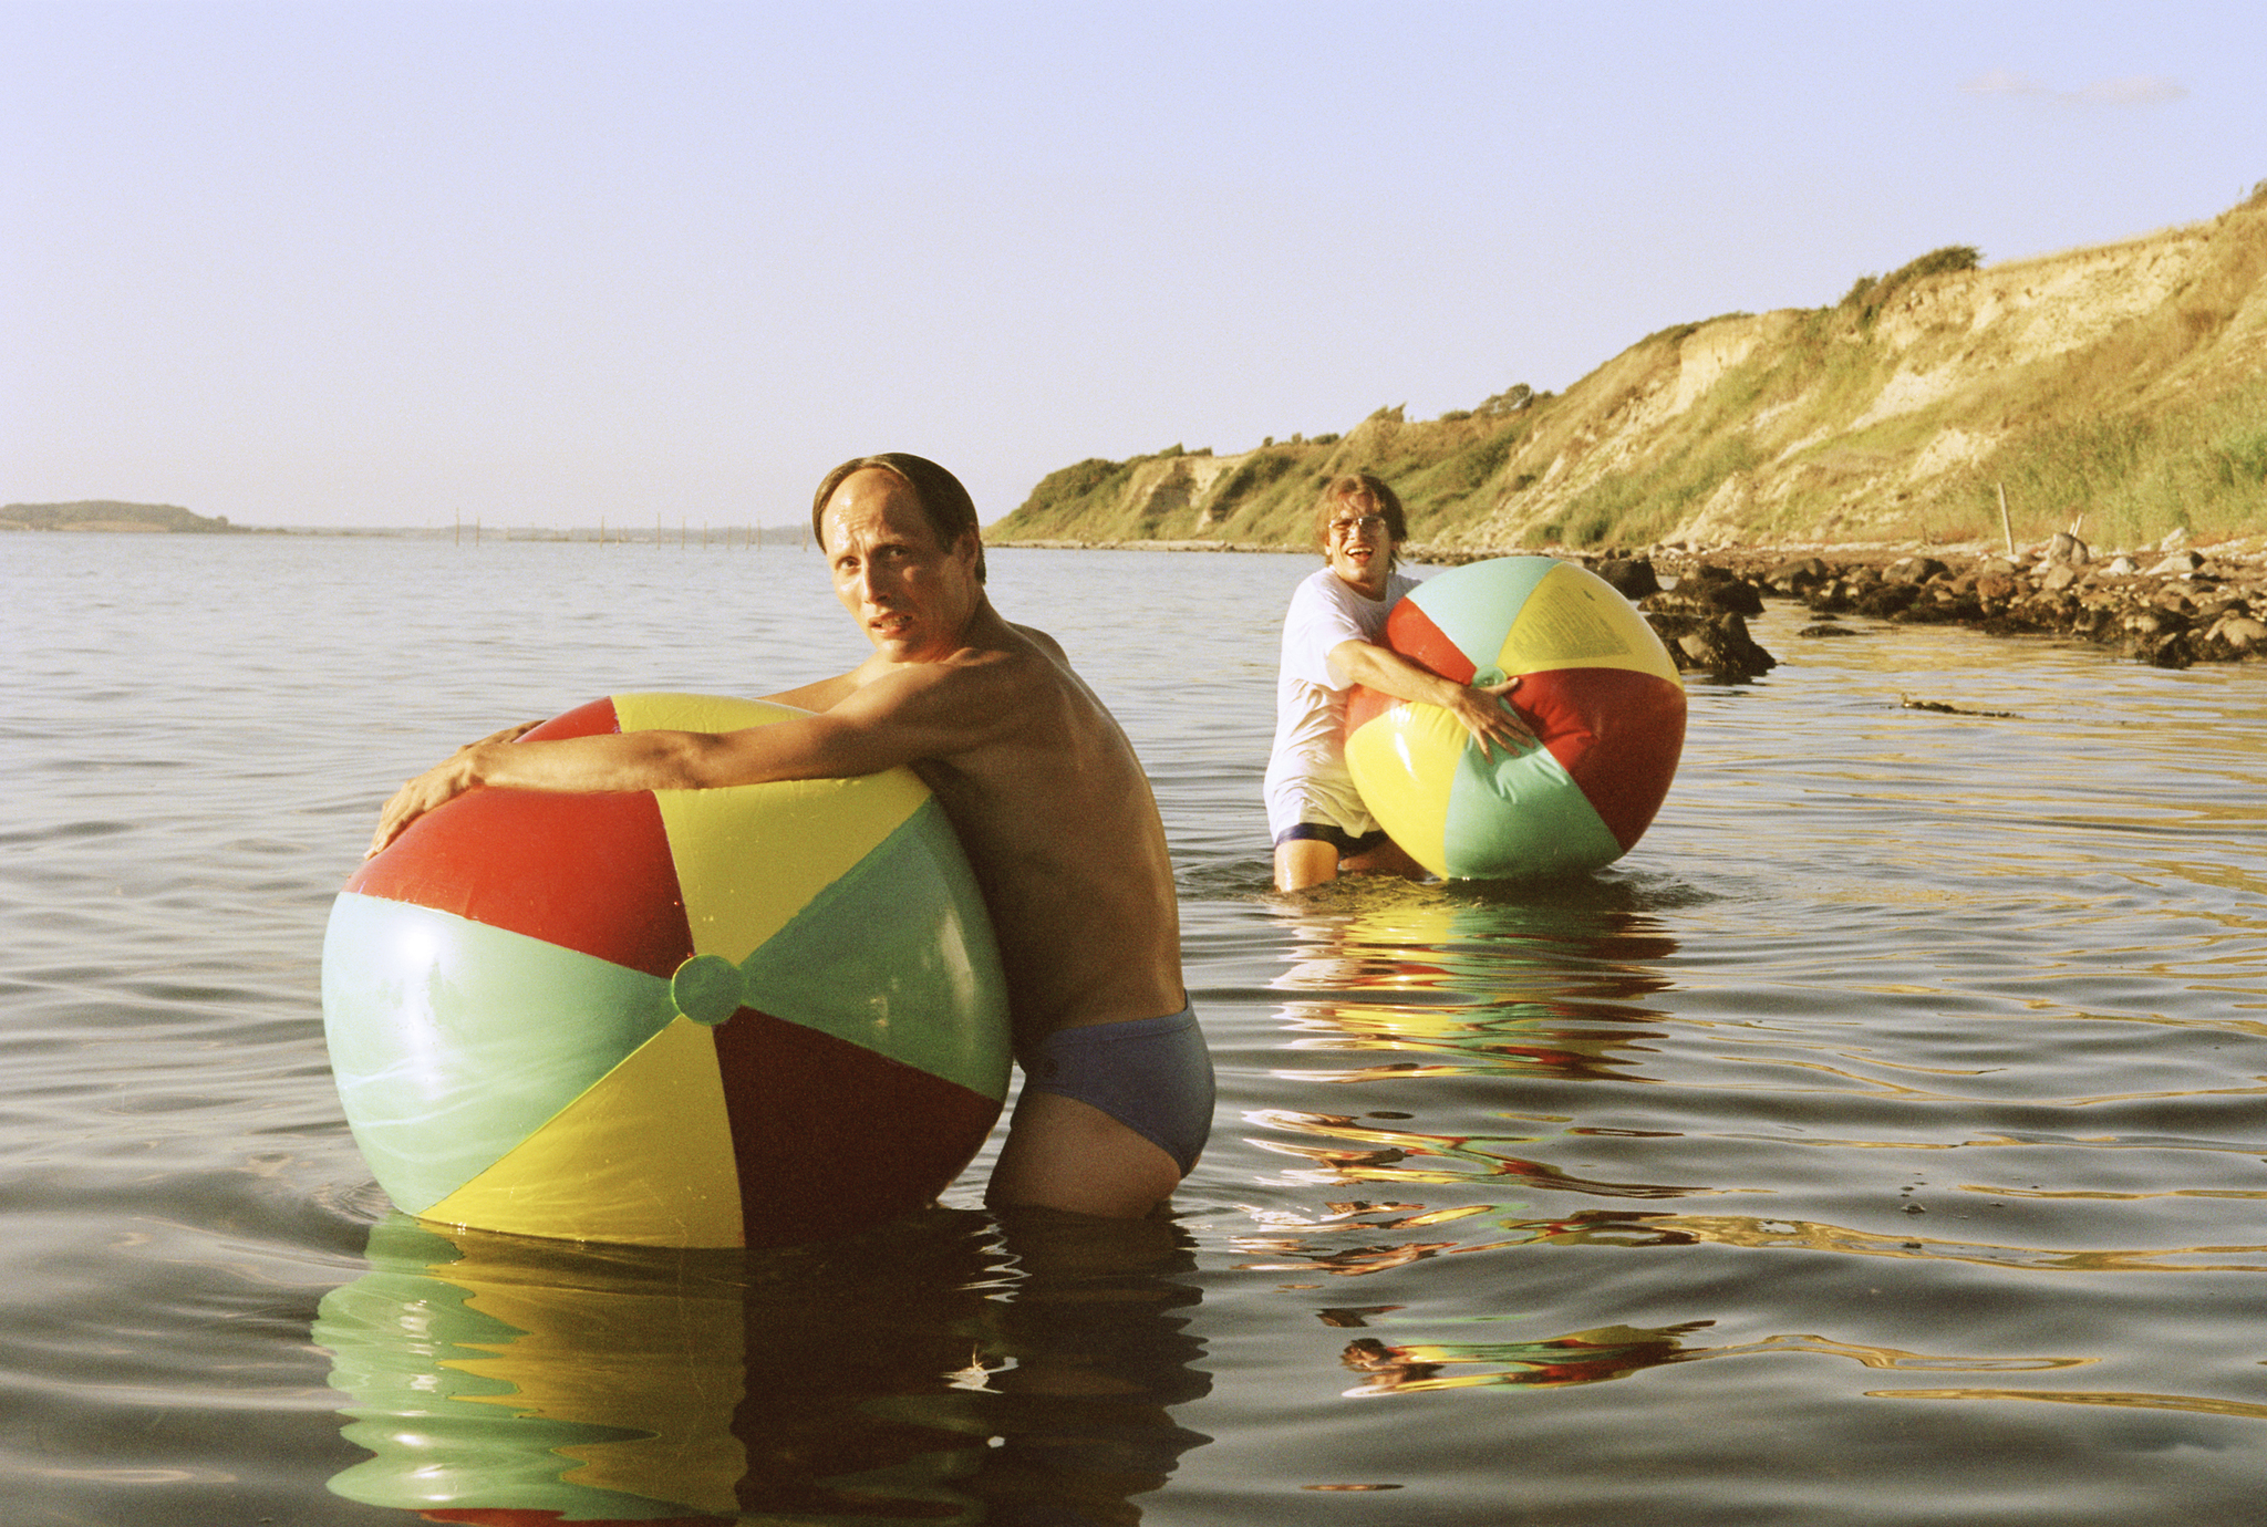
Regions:
[[[612, 696], [528, 739], [800, 716]], [[723, 791], [472, 791], [347, 881], [331, 1069], [419, 1219], [646, 1246], [837, 1235], [929, 1203], [1007, 1094], [968, 859], [905, 768]]]

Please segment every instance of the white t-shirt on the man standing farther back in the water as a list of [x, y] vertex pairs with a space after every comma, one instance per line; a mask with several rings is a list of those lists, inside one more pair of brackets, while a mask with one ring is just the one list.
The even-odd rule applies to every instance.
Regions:
[[1417, 587], [1392, 573], [1385, 598], [1365, 598], [1331, 569], [1290, 596], [1283, 614], [1283, 671], [1276, 677], [1276, 741], [1267, 759], [1267, 836], [1322, 822], [1360, 836], [1376, 829], [1347, 773], [1347, 693], [1353, 680], [1331, 662], [1340, 641], [1376, 641], [1385, 614]]

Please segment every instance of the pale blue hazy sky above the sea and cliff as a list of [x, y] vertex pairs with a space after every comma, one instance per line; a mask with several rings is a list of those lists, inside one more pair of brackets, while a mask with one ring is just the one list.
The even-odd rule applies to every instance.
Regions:
[[2242, 5], [0, 0], [0, 501], [784, 523], [2194, 222]]

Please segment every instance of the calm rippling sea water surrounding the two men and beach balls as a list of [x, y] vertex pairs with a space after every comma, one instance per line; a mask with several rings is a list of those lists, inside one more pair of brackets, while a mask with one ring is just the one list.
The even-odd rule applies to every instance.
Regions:
[[1165, 811], [1177, 1221], [682, 1257], [392, 1217], [322, 929], [456, 743], [857, 662], [816, 555], [0, 539], [0, 1522], [2258, 1520], [2267, 668], [1773, 614], [1621, 865], [1285, 902], [1308, 566], [993, 553]]

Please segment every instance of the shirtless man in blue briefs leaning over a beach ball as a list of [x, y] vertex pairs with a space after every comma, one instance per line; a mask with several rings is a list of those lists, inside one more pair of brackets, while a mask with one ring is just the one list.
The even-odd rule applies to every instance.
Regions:
[[812, 528], [873, 643], [850, 673], [771, 696], [814, 716], [544, 743], [499, 732], [404, 784], [370, 852], [483, 786], [701, 791], [909, 764], [975, 865], [1025, 1069], [986, 1203], [1149, 1214], [1204, 1149], [1213, 1065], [1140, 761], [1063, 648], [991, 607], [975, 505], [950, 471], [902, 453], [843, 462]]

